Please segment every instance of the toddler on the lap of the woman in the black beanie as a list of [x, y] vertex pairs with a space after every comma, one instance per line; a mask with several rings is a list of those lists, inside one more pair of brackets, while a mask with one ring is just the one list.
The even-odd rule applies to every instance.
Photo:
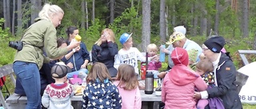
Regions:
[[[198, 64], [196, 64], [196, 72], [198, 72], [198, 74], [202, 77], [202, 79], [206, 82], [206, 84], [208, 85], [208, 88], [213, 88], [214, 87], [214, 66], [213, 66], [213, 63], [210, 62], [210, 60], [208, 60], [207, 58], [203, 58], [202, 60], [200, 60], [198, 62]], [[216, 98], [214, 98], [216, 99]], [[198, 109], [204, 109], [206, 107], [206, 105], [209, 102], [209, 100], [212, 100], [212, 99], [199, 99], [198, 100], [198, 104], [197, 104], [197, 108]], [[217, 99], [219, 100], [219, 99]], [[214, 100], [215, 104], [216, 104], [216, 100]], [[213, 104], [211, 104], [213, 105]], [[218, 104], [218, 106], [221, 106], [221, 107], [218, 107], [218, 109], [222, 108], [224, 109], [222, 103]]]

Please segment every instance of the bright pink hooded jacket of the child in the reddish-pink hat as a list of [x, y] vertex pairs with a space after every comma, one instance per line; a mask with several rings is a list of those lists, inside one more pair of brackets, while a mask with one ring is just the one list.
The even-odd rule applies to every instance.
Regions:
[[[178, 68], [175, 68], [178, 67]], [[174, 65], [162, 83], [162, 102], [166, 109], [196, 109], [194, 89], [204, 91], [207, 85], [201, 76], [186, 66]]]

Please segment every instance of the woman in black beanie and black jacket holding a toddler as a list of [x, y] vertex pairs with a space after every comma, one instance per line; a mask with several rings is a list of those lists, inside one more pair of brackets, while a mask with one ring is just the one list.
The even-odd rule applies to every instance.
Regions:
[[225, 109], [242, 109], [237, 87], [234, 84], [236, 79], [236, 68], [230, 56], [222, 53], [221, 50], [226, 44], [223, 37], [210, 37], [202, 45], [202, 53], [214, 64], [214, 88], [206, 91], [195, 92], [195, 99], [208, 99], [219, 97]]

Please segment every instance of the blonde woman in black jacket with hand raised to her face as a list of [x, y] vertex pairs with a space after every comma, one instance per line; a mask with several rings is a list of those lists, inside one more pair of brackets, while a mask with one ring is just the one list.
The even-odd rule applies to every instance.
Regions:
[[110, 76], [117, 76], [117, 69], [114, 68], [114, 56], [118, 54], [118, 45], [114, 42], [112, 29], [103, 29], [101, 37], [95, 42], [91, 50], [93, 63], [102, 62], [110, 72]]

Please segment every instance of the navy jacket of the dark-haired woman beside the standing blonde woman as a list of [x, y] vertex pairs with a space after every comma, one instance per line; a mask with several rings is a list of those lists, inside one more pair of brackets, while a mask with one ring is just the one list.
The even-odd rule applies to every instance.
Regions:
[[[67, 44], [70, 45], [70, 42], [68, 42]], [[70, 52], [72, 52], [72, 50], [70, 50], [69, 53]], [[72, 72], [79, 70], [82, 64], [84, 64], [85, 60], [90, 61], [90, 54], [86, 49], [86, 44], [83, 42], [80, 43], [80, 50], [74, 53], [72, 56], [70, 56], [70, 59], [66, 59], [65, 56], [63, 56], [62, 58], [62, 61], [65, 64], [71, 62], [74, 65], [74, 68], [72, 68]]]

